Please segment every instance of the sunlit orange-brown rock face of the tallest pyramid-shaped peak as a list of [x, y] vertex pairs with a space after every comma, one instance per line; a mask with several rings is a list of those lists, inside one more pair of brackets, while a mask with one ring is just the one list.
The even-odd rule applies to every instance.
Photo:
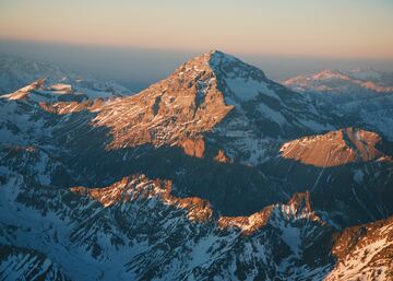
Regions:
[[179, 145], [202, 157], [203, 133], [213, 129], [234, 108], [227, 105], [204, 54], [180, 66], [169, 78], [141, 93], [122, 98], [86, 103], [43, 104], [57, 114], [88, 110], [92, 127], [106, 127], [112, 141], [108, 150], [142, 144]]

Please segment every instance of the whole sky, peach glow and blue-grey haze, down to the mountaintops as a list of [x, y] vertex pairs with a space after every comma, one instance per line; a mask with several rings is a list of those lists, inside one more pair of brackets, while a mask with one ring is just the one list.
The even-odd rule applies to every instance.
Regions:
[[0, 0], [0, 51], [142, 87], [219, 49], [274, 79], [393, 70], [392, 0]]

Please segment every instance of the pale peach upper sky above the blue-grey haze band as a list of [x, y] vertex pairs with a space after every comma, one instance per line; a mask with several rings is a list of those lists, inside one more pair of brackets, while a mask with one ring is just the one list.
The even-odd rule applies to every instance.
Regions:
[[0, 38], [393, 58], [392, 0], [0, 0]]

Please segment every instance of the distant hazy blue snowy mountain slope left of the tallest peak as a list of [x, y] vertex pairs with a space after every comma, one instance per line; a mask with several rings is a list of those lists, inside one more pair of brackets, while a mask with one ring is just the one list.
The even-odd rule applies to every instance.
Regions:
[[66, 71], [53, 63], [0, 54], [0, 94], [15, 92], [39, 79], [45, 79], [48, 85], [55, 87], [67, 85], [91, 98], [132, 93], [114, 81], [100, 81], [91, 75]]

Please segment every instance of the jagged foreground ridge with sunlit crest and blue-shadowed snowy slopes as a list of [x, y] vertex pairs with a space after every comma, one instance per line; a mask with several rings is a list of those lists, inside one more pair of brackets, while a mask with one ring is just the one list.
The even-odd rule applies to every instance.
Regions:
[[[303, 260], [331, 229], [302, 204], [271, 206], [263, 221], [245, 218], [253, 224], [245, 232], [237, 218], [217, 218], [207, 202], [172, 197], [168, 183], [145, 176], [70, 191], [14, 184], [1, 189], [11, 211], [2, 218], [1, 243], [48, 253], [72, 280], [321, 278], [333, 266], [327, 251], [323, 261]], [[308, 269], [300, 273], [300, 265]]]

